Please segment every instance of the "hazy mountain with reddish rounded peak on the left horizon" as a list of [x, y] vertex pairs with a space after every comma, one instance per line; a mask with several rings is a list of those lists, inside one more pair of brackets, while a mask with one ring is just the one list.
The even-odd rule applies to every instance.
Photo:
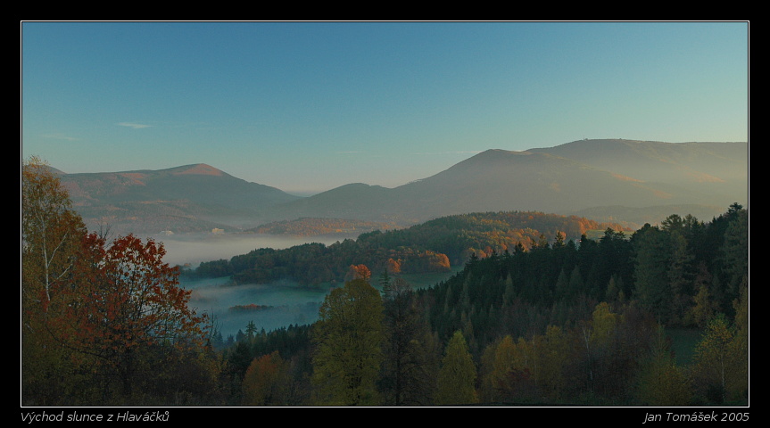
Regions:
[[74, 208], [89, 228], [158, 235], [233, 231], [259, 224], [261, 210], [299, 199], [206, 164], [171, 169], [62, 174]]

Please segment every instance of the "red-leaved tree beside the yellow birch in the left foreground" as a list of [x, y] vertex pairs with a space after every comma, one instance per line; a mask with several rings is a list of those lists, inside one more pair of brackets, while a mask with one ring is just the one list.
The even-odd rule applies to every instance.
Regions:
[[107, 245], [102, 236], [83, 238], [83, 253], [66, 290], [70, 302], [59, 320], [61, 340], [95, 358], [97, 366], [132, 392], [141, 350], [200, 347], [205, 314], [187, 306], [190, 291], [178, 285], [178, 268], [162, 261], [165, 249], [134, 235]]

